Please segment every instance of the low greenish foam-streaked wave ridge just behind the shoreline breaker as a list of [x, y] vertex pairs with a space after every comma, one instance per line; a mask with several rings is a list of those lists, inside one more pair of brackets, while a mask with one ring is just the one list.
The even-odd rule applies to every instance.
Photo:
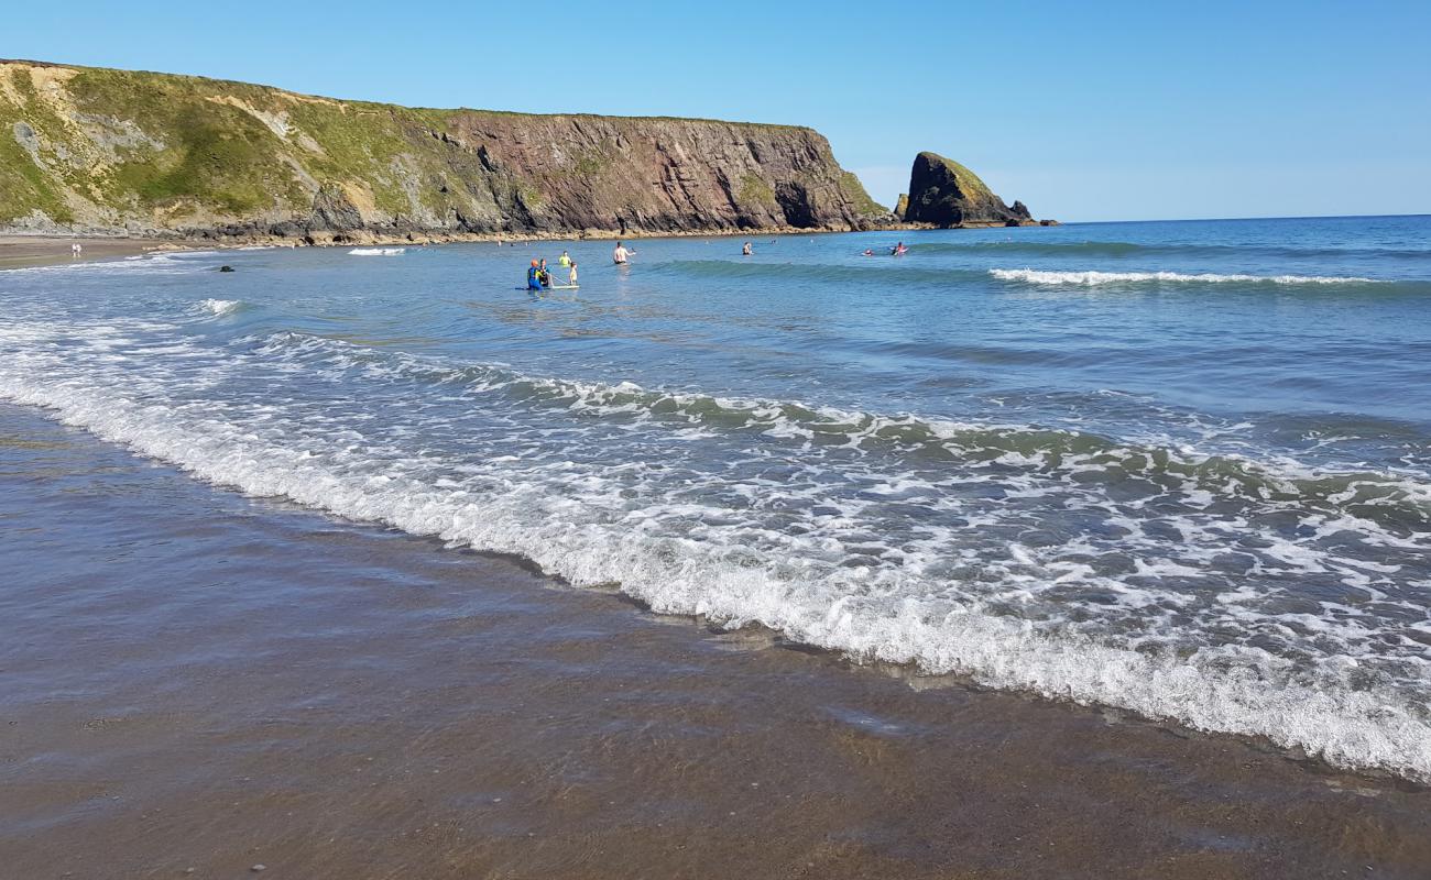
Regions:
[[481, 393], [502, 393], [512, 402], [581, 415], [695, 425], [924, 461], [999, 461], [1043, 474], [1078, 474], [1090, 482], [1116, 482], [1129, 475], [1191, 481], [1219, 495], [1355, 512], [1402, 534], [1431, 531], [1431, 475], [1427, 474], [1311, 468], [1288, 459], [1259, 461], [1234, 452], [1199, 452], [1191, 446], [1120, 441], [1060, 428], [648, 389], [634, 382], [611, 385], [529, 376], [505, 365], [451, 363], [299, 332], [250, 338], [250, 342], [263, 356], [303, 358], [303, 369], [309, 373], [359, 369], [404, 382], [461, 385]]

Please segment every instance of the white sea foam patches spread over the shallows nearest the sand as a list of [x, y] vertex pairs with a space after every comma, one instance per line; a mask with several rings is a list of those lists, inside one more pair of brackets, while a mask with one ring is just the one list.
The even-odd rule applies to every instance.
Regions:
[[[104, 439], [169, 461], [215, 484], [253, 495], [285, 497], [336, 515], [389, 524], [454, 544], [525, 555], [575, 584], [618, 582], [622, 591], [663, 612], [704, 614], [730, 627], [758, 622], [794, 640], [861, 658], [916, 664], [929, 673], [956, 673], [990, 687], [1102, 703], [1201, 730], [1265, 735], [1341, 766], [1381, 767], [1431, 778], [1431, 725], [1424, 711], [1407, 703], [1402, 693], [1352, 687], [1347, 678], [1347, 657], [1332, 657], [1308, 668], [1286, 657], [1235, 644], [1202, 645], [1185, 654], [1148, 647], [1135, 650], [997, 611], [1000, 604], [1043, 601], [1042, 592], [1055, 578], [1063, 581], [1060, 587], [1099, 582], [1103, 575], [1093, 565], [1078, 561], [1095, 558], [1090, 545], [1073, 542], [1050, 548], [1015, 541], [1006, 548], [1007, 559], [1000, 562], [977, 548], [960, 547], [957, 532], [943, 527], [929, 527], [922, 535], [907, 537], [900, 547], [879, 544], [869, 517], [883, 509], [880, 499], [889, 495], [920, 494], [920, 504], [930, 511], [962, 511], [966, 502], [952, 497], [947, 487], [927, 479], [876, 471], [850, 471], [841, 476], [863, 485], [869, 498], [859, 494], [834, 497], [823, 484], [784, 475], [736, 481], [731, 491], [744, 498], [747, 507], [778, 501], [788, 508], [810, 504], [827, 508], [827, 512], [811, 514], [806, 522], [811, 529], [809, 535], [781, 532], [761, 525], [740, 507], [717, 507], [673, 494], [670, 485], [680, 485], [685, 478], [674, 484], [641, 482], [657, 474], [641, 461], [597, 466], [560, 456], [527, 458], [522, 444], [532, 431], [529, 425], [502, 428], [511, 434], [501, 441], [511, 449], [508, 455], [436, 461], [432, 452], [408, 451], [402, 442], [371, 436], [366, 434], [371, 425], [343, 422], [326, 408], [293, 409], [265, 399], [253, 411], [255, 418], [245, 418], [246, 411], [239, 405], [215, 406], [203, 398], [170, 398], [176, 383], [185, 379], [160, 372], [157, 361], [133, 359], [150, 358], [155, 349], [124, 355], [126, 346], [136, 345], [135, 336], [140, 332], [136, 328], [92, 326], [83, 333], [70, 326], [20, 329], [23, 332], [0, 333], [0, 343], [16, 355], [0, 361], [0, 396], [52, 408], [67, 424], [89, 428]], [[76, 336], [86, 339], [94, 352], [83, 369], [77, 369], [74, 352], [59, 345]], [[49, 341], [56, 342], [53, 349], [47, 348]], [[275, 338], [259, 352], [270, 363], [302, 369], [309, 379], [322, 378], [325, 369], [332, 369], [336, 381], [358, 369], [372, 381], [401, 379], [411, 388], [408, 382], [416, 371], [438, 372], [416, 358], [381, 358], [378, 352], [356, 346], [293, 335]], [[328, 366], [313, 361], [315, 356], [326, 359]], [[110, 369], [110, 363], [116, 366]], [[220, 359], [207, 369], [233, 368], [236, 365]], [[521, 392], [537, 395], [534, 399], [545, 406], [627, 421], [654, 419], [657, 411], [685, 406], [687, 416], [677, 412], [670, 418], [700, 422], [700, 414], [717, 401], [700, 395], [663, 395], [630, 383], [604, 386], [511, 372], [484, 373], [472, 368], [451, 373], [445, 379], [435, 378], [469, 381], [461, 391], [468, 399], [481, 393]], [[207, 381], [207, 373], [199, 379]], [[422, 405], [421, 399], [409, 399], [414, 406]], [[727, 411], [746, 406], [748, 418], [764, 425], [761, 435], [781, 422], [794, 424], [801, 431], [778, 432], [794, 442], [801, 441], [801, 432], [834, 432], [836, 426], [863, 439], [900, 431], [957, 439], [970, 429], [957, 424], [929, 428], [930, 422], [913, 416], [876, 418], [843, 411], [806, 409], [809, 415], [801, 416], [790, 404], [768, 401], [720, 401], [718, 405]], [[421, 422], [404, 431], [405, 436], [424, 434]], [[854, 452], [851, 448], [850, 454]], [[1047, 452], [1025, 449], [1015, 459], [990, 466], [1006, 471], [999, 472], [999, 485], [1010, 495], [1037, 497], [1047, 489], [1037, 482], [1043, 479], [1040, 474], [1052, 472], [1053, 478], [1073, 485], [1078, 476], [1093, 471], [1098, 455], [1128, 462], [1133, 451], [1063, 452], [1065, 461], [1055, 464]], [[663, 462], [663, 471], [671, 466], [678, 462]], [[990, 478], [979, 472], [959, 475], [967, 482]], [[934, 495], [934, 489], [940, 492]], [[627, 501], [630, 494], [641, 498]], [[1093, 504], [1096, 499], [1070, 495], [1070, 501]], [[1003, 525], [997, 515], [967, 512], [970, 529]], [[684, 531], [674, 529], [673, 522], [684, 524]], [[1128, 538], [1130, 547], [1161, 547], [1139, 537], [1141, 521], [1125, 522], [1135, 532]], [[1375, 527], [1341, 519], [1338, 525], [1344, 529]], [[1222, 547], [1225, 541], [1218, 531], [1222, 524], [1215, 521], [1185, 518], [1176, 528], [1193, 551]], [[1239, 528], [1249, 529], [1246, 524]], [[869, 537], [840, 538], [840, 547], [831, 545], [846, 531]], [[851, 548], [859, 554], [900, 554], [903, 564], [840, 565], [854, 558], [849, 555]], [[1069, 549], [1073, 559], [1053, 555]], [[836, 555], [831, 557], [831, 551]], [[1284, 541], [1271, 544], [1265, 558], [1298, 571], [1325, 567], [1325, 559], [1309, 554], [1307, 547]], [[1195, 554], [1183, 558], [1195, 558]], [[950, 559], [956, 565], [983, 565], [986, 575], [993, 578], [987, 592], [979, 595], [975, 584], [957, 581], [930, 590], [930, 578], [949, 577], [939, 572]], [[1103, 585], [1122, 607], [1152, 614], [1169, 602], [1188, 601], [1156, 587], [1159, 581], [1198, 574], [1202, 574], [1199, 568], [1185, 562], [1151, 555], [1136, 562], [1141, 582], [1105, 578]], [[1261, 598], [1226, 594], [1219, 608], [1261, 625], [1268, 618], [1249, 608]], [[1305, 612], [1289, 614], [1286, 621], [1319, 627], [1325, 638], [1351, 638], [1335, 630], [1332, 621]]]

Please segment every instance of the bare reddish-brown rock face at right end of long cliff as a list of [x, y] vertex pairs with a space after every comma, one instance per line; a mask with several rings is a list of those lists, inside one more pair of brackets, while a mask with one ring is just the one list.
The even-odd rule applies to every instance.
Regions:
[[467, 113], [494, 215], [532, 229], [857, 229], [879, 209], [810, 129], [704, 120]]

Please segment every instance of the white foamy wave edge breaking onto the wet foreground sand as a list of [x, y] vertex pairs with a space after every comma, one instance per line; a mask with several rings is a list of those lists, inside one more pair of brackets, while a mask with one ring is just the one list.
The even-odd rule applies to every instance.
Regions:
[[1298, 670], [1252, 647], [1203, 647], [1186, 655], [1115, 647], [946, 598], [890, 604], [881, 597], [899, 591], [893, 575], [846, 571], [826, 575], [844, 582], [817, 585], [800, 565], [763, 558], [738, 541], [661, 537], [588, 521], [570, 498], [531, 485], [474, 492], [355, 458], [351, 446], [299, 448], [278, 435], [255, 435], [222, 412], [185, 418], [113, 388], [47, 385], [0, 372], [0, 395], [49, 408], [66, 424], [218, 485], [522, 555], [577, 585], [620, 584], [658, 612], [705, 615], [731, 628], [758, 624], [861, 660], [1115, 705], [1198, 730], [1261, 735], [1334, 764], [1431, 778], [1427, 720], [1394, 694], [1352, 690], [1335, 668]]

